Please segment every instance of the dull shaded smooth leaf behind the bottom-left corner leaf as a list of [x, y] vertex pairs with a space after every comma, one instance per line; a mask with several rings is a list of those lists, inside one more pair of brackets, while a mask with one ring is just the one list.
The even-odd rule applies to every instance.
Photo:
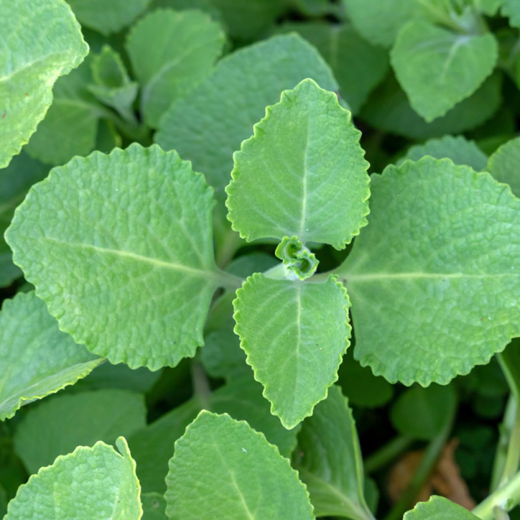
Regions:
[[145, 424], [141, 394], [107, 389], [58, 395], [24, 415], [16, 430], [15, 451], [29, 473], [36, 473], [76, 446], [90, 446], [98, 440], [113, 444]]

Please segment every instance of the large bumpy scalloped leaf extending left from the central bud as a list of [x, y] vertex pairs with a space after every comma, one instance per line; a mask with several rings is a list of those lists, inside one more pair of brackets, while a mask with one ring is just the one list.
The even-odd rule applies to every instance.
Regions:
[[6, 240], [77, 343], [131, 368], [175, 366], [203, 343], [220, 283], [212, 192], [176, 152], [94, 152], [33, 186]]

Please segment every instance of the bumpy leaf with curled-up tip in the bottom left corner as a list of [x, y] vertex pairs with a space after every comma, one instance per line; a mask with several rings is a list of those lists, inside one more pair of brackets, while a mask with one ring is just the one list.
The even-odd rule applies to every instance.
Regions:
[[9, 502], [4, 520], [139, 520], [139, 481], [124, 437], [116, 445], [121, 455], [99, 441], [80, 446], [42, 467]]

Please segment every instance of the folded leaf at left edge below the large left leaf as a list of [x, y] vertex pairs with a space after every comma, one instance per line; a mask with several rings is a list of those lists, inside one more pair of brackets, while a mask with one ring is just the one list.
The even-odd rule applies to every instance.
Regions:
[[0, 420], [74, 384], [101, 361], [59, 331], [34, 292], [5, 300], [0, 313]]

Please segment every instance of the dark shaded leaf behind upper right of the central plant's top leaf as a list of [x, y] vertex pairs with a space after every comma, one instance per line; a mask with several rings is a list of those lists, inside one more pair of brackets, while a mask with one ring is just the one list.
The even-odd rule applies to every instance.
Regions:
[[352, 25], [286, 23], [280, 31], [296, 31], [320, 51], [340, 85], [340, 96], [354, 114], [388, 69], [386, 50], [363, 40]]

